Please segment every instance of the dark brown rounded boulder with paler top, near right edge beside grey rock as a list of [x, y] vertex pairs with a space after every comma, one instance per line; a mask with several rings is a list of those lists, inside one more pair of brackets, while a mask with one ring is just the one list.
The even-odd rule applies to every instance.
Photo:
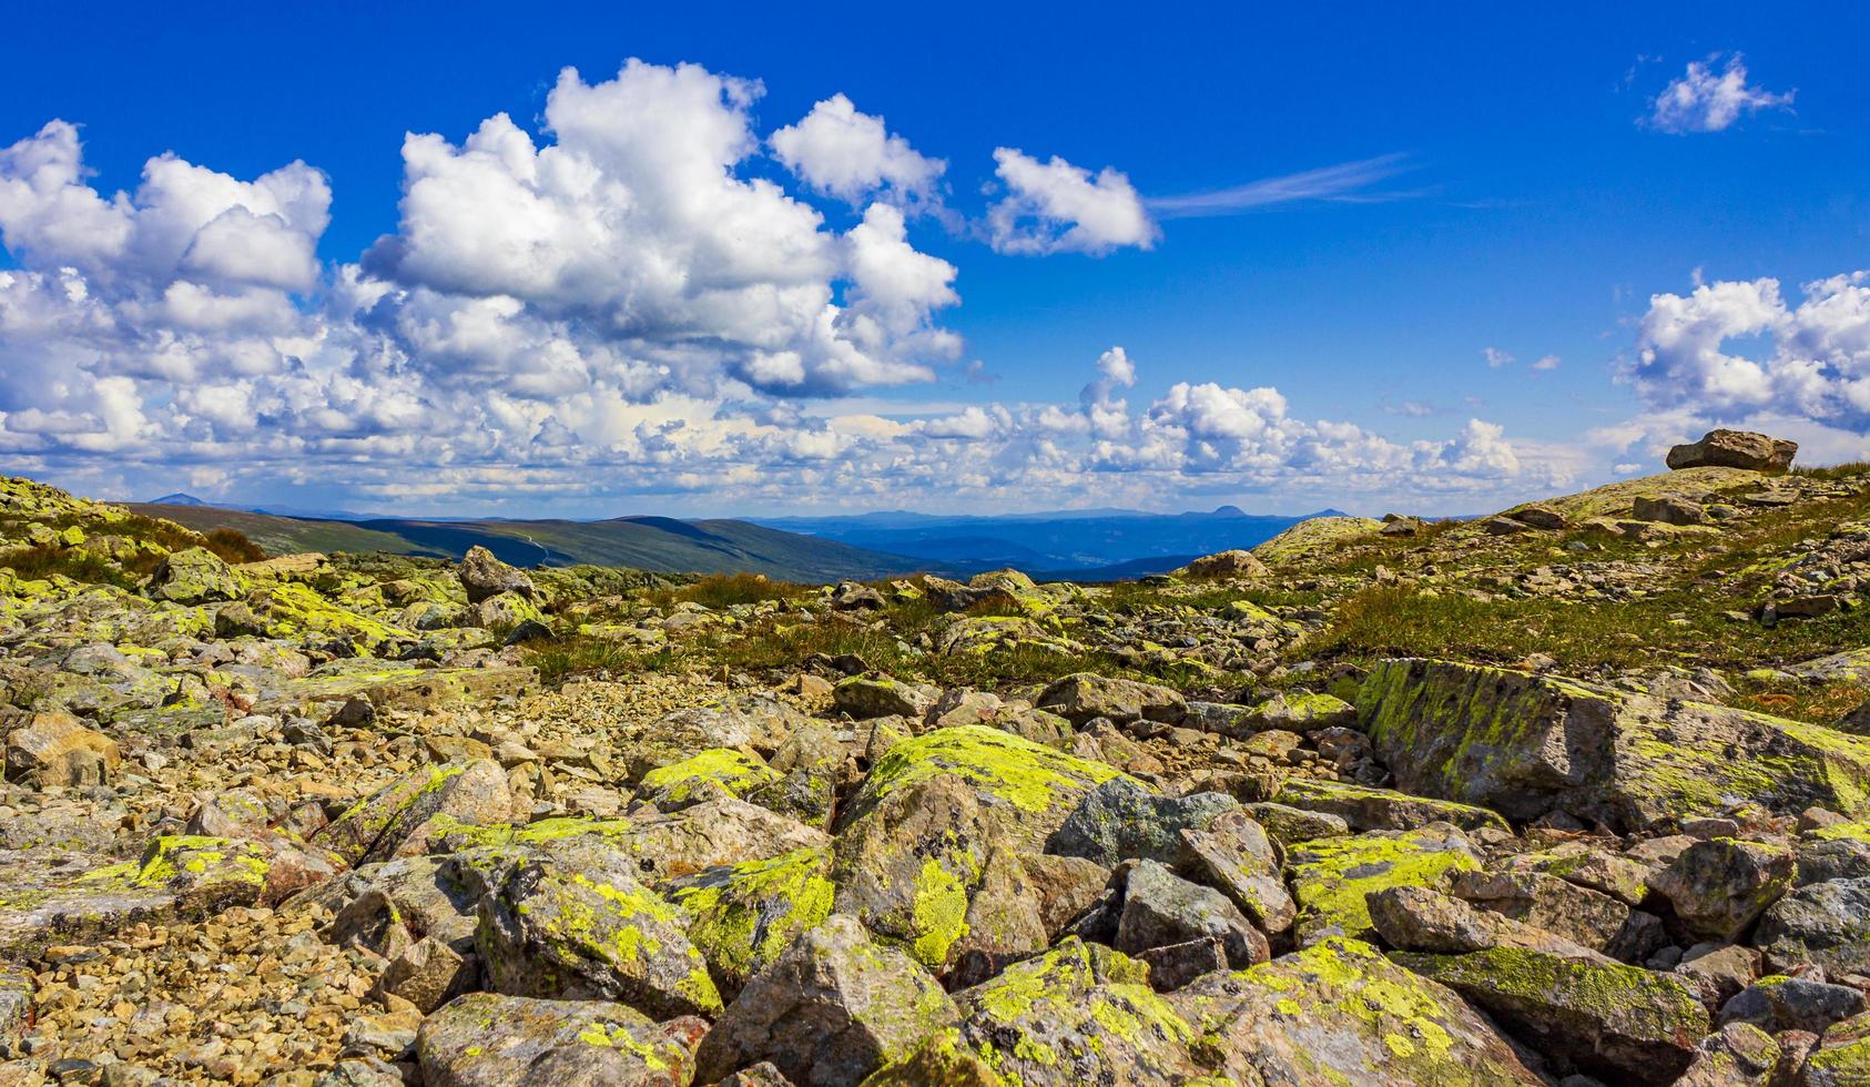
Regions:
[[1692, 935], [1732, 943], [1791, 889], [1795, 870], [1788, 846], [1711, 838], [1683, 849], [1649, 887]]

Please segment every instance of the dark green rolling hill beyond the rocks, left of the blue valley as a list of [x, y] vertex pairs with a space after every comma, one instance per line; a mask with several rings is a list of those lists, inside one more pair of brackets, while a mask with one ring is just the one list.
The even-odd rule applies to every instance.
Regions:
[[133, 505], [196, 531], [236, 528], [273, 554], [393, 552], [460, 558], [479, 544], [533, 567], [595, 563], [662, 572], [754, 572], [791, 582], [905, 574], [929, 563], [744, 520], [320, 520], [213, 505]]

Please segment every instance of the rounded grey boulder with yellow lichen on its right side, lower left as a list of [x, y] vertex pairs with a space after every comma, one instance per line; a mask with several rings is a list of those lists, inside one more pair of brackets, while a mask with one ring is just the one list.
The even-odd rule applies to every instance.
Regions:
[[608, 999], [649, 1016], [716, 1016], [720, 992], [688, 943], [686, 915], [636, 881], [604, 844], [514, 864], [481, 898], [477, 947], [509, 995]]

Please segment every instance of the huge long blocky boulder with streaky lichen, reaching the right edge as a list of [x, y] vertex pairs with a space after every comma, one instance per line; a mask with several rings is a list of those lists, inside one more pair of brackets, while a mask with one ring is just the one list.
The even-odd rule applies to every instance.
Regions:
[[1382, 660], [1361, 726], [1408, 793], [1649, 831], [1741, 804], [1857, 814], [1870, 739], [1724, 705], [1447, 660]]

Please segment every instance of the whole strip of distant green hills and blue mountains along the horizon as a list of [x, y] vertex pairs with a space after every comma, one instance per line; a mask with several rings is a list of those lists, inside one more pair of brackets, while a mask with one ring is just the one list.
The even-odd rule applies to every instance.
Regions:
[[1195, 556], [1249, 548], [1305, 520], [1247, 515], [1232, 505], [1178, 515], [1090, 509], [763, 520], [380, 518], [245, 509], [180, 492], [133, 509], [200, 531], [237, 528], [275, 554], [342, 550], [460, 558], [479, 544], [522, 567], [597, 563], [669, 572], [759, 572], [797, 582], [914, 571], [965, 576], [999, 567], [1042, 578], [1124, 580], [1171, 571]]

